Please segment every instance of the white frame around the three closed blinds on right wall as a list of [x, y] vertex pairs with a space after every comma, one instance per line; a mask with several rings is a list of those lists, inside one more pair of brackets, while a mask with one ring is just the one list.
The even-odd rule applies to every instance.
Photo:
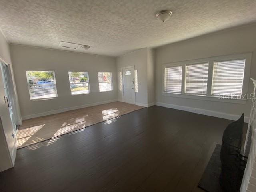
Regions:
[[[172, 62], [172, 63], [163, 64], [162, 65], [162, 95], [163, 96], [171, 96], [171, 97], [179, 97], [179, 98], [190, 98], [190, 99], [196, 99], [196, 100], [208, 100], [208, 101], [231, 102], [231, 103], [245, 104], [246, 99], [244, 99], [244, 98], [220, 99], [219, 96], [214, 96], [214, 95], [211, 94], [212, 93], [212, 83], [213, 83], [214, 62], [228, 61], [228, 60], [239, 60], [239, 59], [245, 59], [244, 80], [243, 80], [243, 85], [242, 85], [242, 95], [244, 95], [244, 94], [248, 93], [252, 53], [214, 56], [214, 57], [209, 57], [209, 58], [200, 58], [200, 59], [195, 59], [195, 60], [186, 60], [186, 61]], [[204, 63], [204, 62], [209, 63], [206, 95], [197, 95], [197, 94], [187, 94], [187, 93], [185, 93], [186, 65], [200, 64], [200, 63]], [[164, 80], [165, 80], [164, 71], [165, 71], [166, 67], [172, 67], [172, 66], [182, 66], [181, 93], [170, 93], [170, 92], [165, 92], [164, 91]]]

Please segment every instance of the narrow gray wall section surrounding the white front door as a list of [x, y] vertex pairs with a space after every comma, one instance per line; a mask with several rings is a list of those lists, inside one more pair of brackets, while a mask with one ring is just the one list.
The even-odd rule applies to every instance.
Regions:
[[[122, 72], [122, 67], [135, 66], [138, 70], [138, 93], [136, 93], [136, 103], [148, 104], [148, 48], [143, 48], [116, 58], [117, 73]], [[119, 78], [118, 78], [119, 85]], [[118, 89], [118, 100], [123, 100], [123, 92]]]

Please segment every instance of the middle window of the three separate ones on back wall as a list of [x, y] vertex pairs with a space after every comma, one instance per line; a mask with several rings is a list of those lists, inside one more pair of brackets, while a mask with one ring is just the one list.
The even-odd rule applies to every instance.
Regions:
[[88, 72], [69, 71], [68, 76], [72, 95], [90, 93]]

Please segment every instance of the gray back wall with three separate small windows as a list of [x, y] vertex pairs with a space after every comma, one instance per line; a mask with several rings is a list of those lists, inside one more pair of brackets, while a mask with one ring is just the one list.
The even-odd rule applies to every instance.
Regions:
[[[24, 118], [31, 118], [40, 114], [45, 115], [46, 112], [53, 110], [117, 99], [116, 63], [113, 57], [20, 45], [11, 45], [10, 50], [20, 100], [20, 110]], [[26, 70], [55, 70], [58, 98], [31, 101]], [[89, 72], [90, 94], [71, 95], [68, 78], [69, 70]], [[99, 92], [98, 71], [112, 72], [113, 91]]]

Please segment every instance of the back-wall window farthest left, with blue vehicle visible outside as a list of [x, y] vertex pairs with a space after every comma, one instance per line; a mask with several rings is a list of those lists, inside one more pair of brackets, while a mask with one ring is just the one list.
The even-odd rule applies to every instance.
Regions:
[[57, 97], [54, 71], [26, 71], [31, 100]]

